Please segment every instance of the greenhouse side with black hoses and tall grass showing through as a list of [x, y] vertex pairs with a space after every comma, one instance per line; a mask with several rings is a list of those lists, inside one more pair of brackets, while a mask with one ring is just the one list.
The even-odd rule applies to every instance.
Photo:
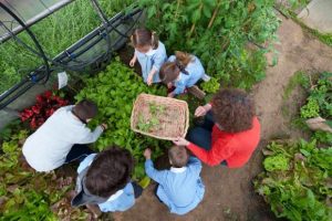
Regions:
[[142, 15], [132, 1], [0, 2], [0, 109], [61, 71], [108, 62]]

